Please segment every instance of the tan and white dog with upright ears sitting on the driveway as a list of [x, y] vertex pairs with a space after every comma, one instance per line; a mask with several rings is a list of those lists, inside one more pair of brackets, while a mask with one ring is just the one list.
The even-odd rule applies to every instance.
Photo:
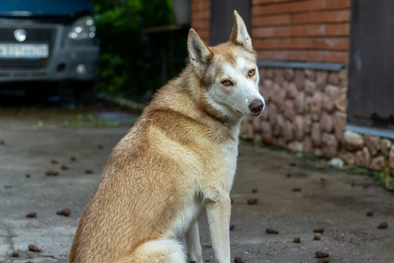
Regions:
[[237, 11], [228, 42], [208, 47], [190, 29], [188, 51], [191, 63], [113, 149], [67, 262], [202, 263], [203, 210], [216, 262], [230, 262], [240, 124], [265, 106], [256, 52]]

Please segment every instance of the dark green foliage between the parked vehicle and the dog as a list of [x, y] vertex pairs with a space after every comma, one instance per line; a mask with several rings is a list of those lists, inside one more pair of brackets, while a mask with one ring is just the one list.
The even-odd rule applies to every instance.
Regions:
[[[171, 24], [172, 1], [93, 0], [93, 5], [101, 45], [99, 90], [138, 99], [160, 88], [160, 42], [141, 35], [140, 30]], [[186, 40], [182, 48], [179, 42], [170, 43], [169, 52], [186, 57]], [[170, 65], [169, 77], [176, 76], [183, 66]]]

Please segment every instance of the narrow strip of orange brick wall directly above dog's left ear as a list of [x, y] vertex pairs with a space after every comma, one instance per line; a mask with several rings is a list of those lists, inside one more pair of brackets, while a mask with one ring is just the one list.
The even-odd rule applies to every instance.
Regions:
[[209, 44], [210, 1], [191, 1], [191, 27]]

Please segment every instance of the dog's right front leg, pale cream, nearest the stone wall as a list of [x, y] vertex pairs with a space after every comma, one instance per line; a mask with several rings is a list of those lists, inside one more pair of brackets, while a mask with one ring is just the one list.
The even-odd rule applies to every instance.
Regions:
[[204, 196], [212, 246], [217, 263], [230, 262], [230, 210], [231, 200], [228, 194], [214, 191], [211, 196]]

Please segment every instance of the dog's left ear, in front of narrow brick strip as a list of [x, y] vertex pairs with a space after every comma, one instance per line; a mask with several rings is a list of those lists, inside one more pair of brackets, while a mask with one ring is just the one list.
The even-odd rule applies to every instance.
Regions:
[[212, 51], [205, 45], [194, 29], [189, 30], [187, 49], [189, 51], [190, 62], [201, 71], [204, 71], [208, 60], [212, 57]]

